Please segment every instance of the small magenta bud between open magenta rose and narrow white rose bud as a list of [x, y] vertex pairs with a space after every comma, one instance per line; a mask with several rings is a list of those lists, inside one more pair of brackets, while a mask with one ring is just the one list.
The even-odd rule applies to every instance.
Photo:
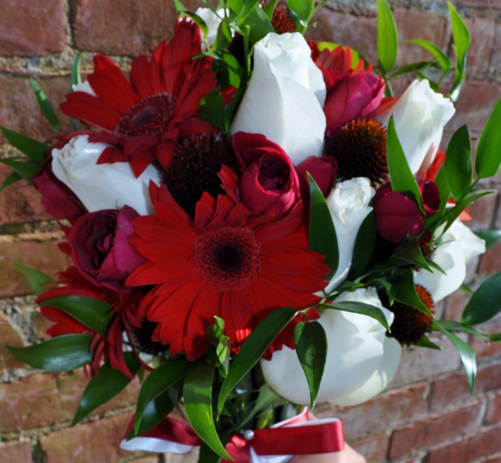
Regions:
[[296, 167], [299, 177], [301, 197], [310, 197], [310, 184], [307, 172], [317, 182], [324, 196], [327, 196], [334, 186], [337, 173], [337, 162], [332, 156], [310, 156]]

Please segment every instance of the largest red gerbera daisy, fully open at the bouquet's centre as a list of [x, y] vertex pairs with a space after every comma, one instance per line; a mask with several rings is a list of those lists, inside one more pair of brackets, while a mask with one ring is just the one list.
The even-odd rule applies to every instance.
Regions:
[[[147, 260], [126, 284], [156, 284], [141, 303], [158, 322], [153, 340], [190, 360], [205, 351], [207, 326], [217, 315], [233, 349], [272, 310], [306, 308], [319, 298], [329, 269], [308, 249], [302, 202], [283, 219], [252, 219], [243, 204], [204, 193], [195, 218], [176, 204], [165, 185], [150, 184], [155, 216], [133, 220], [130, 242]], [[289, 340], [288, 342], [291, 342]], [[281, 348], [281, 345], [276, 346]], [[269, 352], [270, 353], [270, 352]]]

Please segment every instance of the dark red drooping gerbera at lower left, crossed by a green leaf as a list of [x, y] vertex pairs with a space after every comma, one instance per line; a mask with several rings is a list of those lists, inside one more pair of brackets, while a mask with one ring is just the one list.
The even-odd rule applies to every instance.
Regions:
[[[141, 326], [138, 315], [139, 304], [143, 297], [137, 289], [130, 294], [120, 293], [108, 288], [95, 286], [84, 278], [75, 267], [70, 267], [59, 274], [57, 286], [38, 296], [36, 302], [43, 305], [49, 299], [65, 296], [92, 297], [108, 302], [113, 307], [114, 317], [108, 327], [106, 336], [93, 331], [78, 320], [54, 307], [42, 306], [40, 311], [48, 320], [54, 321], [47, 333], [53, 337], [63, 334], [87, 333], [93, 336], [91, 351], [93, 361], [90, 364], [90, 374], [96, 374], [103, 361], [109, 361], [112, 368], [121, 371], [128, 377], [133, 377], [123, 352], [123, 333], [131, 332], [132, 327]], [[136, 354], [136, 352], [134, 352]], [[141, 361], [136, 354], [136, 358]], [[142, 362], [141, 362], [142, 363]], [[143, 364], [143, 366], [146, 366]]]

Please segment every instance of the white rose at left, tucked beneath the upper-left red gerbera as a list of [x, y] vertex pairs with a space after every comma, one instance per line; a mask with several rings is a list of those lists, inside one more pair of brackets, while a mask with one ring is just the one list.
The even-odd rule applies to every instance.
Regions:
[[90, 143], [88, 135], [77, 135], [61, 149], [52, 150], [52, 170], [89, 212], [128, 205], [140, 215], [153, 213], [148, 185], [150, 180], [160, 183], [157, 168], [150, 164], [136, 178], [128, 162], [97, 164], [107, 146]]

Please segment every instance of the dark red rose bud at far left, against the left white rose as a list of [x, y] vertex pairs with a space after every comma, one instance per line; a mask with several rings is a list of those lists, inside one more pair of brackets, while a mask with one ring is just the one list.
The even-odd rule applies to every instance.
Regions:
[[85, 213], [73, 191], [54, 175], [51, 154], [33, 175], [33, 184], [42, 196], [42, 204], [53, 217], [76, 218]]

